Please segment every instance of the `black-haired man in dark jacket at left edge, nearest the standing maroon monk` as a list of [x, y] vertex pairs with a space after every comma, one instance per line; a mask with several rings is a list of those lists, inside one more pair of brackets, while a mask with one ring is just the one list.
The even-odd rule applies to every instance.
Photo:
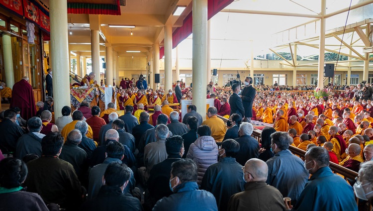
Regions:
[[0, 122], [0, 151], [2, 153], [15, 152], [17, 140], [23, 135], [22, 128], [15, 123], [17, 112], [14, 109], [4, 111], [4, 120]]

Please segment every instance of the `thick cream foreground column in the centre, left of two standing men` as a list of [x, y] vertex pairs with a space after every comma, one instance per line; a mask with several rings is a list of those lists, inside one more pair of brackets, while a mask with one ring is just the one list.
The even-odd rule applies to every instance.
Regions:
[[193, 0], [192, 104], [206, 119], [207, 0]]

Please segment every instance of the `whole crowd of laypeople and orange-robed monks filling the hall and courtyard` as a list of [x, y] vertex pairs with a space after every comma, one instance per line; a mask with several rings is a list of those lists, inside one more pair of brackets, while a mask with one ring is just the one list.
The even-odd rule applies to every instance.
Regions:
[[[206, 120], [194, 105], [183, 119], [169, 106], [191, 98], [182, 82], [166, 94], [141, 78], [102, 111], [83, 102], [52, 120], [48, 97], [38, 114], [1, 112], [0, 210], [357, 211], [355, 195], [373, 198], [373, 102], [360, 94], [369, 86], [316, 99], [252, 83], [207, 85]], [[273, 124], [260, 142], [251, 121]], [[330, 161], [359, 177], [347, 182]]]

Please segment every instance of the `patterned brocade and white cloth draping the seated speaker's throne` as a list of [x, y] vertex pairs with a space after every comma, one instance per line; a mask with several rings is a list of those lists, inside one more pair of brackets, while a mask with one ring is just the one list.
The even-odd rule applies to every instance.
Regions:
[[116, 90], [113, 87], [73, 87], [70, 89], [71, 110], [79, 108], [86, 101], [90, 106], [99, 106], [101, 111], [108, 103], [116, 103]]

